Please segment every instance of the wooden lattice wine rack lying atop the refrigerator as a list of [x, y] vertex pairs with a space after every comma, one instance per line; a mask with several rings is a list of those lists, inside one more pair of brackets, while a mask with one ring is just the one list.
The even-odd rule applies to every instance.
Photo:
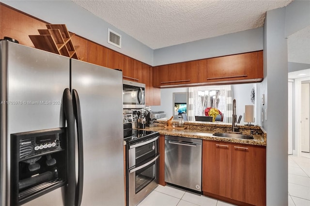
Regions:
[[79, 59], [71, 40], [71, 37], [75, 34], [69, 32], [65, 24], [47, 24], [46, 26], [47, 29], [38, 29], [39, 35], [29, 35], [34, 47], [69, 58]]

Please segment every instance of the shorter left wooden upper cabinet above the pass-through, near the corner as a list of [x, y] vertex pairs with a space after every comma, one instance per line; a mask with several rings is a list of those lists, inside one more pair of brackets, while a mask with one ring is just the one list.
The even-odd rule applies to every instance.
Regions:
[[156, 66], [153, 68], [153, 85], [186, 85], [198, 80], [197, 61]]

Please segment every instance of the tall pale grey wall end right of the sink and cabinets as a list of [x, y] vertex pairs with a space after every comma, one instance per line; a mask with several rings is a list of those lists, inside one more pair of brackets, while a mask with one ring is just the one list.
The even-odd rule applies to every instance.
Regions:
[[[285, 10], [267, 11], [264, 24], [264, 67], [267, 84], [266, 203], [288, 205], [288, 60]], [[267, 86], [267, 88], [265, 88]]]

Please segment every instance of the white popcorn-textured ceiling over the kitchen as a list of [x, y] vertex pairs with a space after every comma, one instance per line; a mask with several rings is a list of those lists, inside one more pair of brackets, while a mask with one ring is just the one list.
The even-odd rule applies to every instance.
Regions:
[[152, 49], [263, 27], [293, 0], [72, 0]]

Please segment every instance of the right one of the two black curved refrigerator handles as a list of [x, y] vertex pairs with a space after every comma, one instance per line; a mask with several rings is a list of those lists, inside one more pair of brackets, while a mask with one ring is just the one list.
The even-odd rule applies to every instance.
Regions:
[[75, 206], [80, 206], [83, 195], [84, 157], [83, 157], [83, 129], [82, 129], [81, 106], [79, 102], [78, 92], [76, 89], [72, 89], [72, 102], [78, 133], [78, 184], [76, 189]]

